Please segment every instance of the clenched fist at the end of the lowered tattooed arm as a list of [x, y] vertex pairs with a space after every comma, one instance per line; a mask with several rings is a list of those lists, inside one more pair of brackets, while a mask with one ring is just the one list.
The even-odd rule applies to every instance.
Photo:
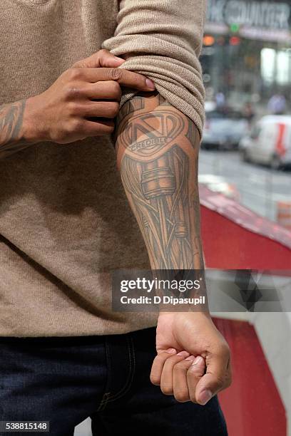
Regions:
[[230, 350], [208, 313], [160, 313], [150, 380], [180, 402], [205, 405], [231, 383]]

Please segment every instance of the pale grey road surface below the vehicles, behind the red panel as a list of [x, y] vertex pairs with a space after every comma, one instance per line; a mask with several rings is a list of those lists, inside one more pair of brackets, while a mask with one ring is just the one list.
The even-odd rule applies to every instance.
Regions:
[[235, 185], [240, 202], [276, 220], [277, 202], [291, 202], [291, 171], [275, 171], [240, 160], [236, 151], [200, 151], [199, 174], [218, 175]]

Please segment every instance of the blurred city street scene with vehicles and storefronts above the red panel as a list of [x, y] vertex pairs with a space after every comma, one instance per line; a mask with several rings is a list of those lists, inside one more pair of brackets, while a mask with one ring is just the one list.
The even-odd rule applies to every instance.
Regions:
[[200, 182], [291, 228], [290, 29], [291, 1], [208, 0]]

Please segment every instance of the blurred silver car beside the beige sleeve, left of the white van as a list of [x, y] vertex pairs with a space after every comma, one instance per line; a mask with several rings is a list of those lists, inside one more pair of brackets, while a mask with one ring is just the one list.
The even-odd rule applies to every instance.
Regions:
[[230, 150], [249, 132], [247, 118], [230, 108], [206, 110], [202, 147]]

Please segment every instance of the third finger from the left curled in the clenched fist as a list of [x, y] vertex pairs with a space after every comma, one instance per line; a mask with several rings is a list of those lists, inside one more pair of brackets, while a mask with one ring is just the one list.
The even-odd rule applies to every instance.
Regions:
[[190, 400], [187, 383], [187, 371], [190, 368], [190, 365], [192, 365], [194, 359], [194, 355], [189, 355], [188, 358], [181, 360], [174, 366], [173, 394], [175, 399], [179, 401], [179, 403], [185, 403], [185, 401]]

